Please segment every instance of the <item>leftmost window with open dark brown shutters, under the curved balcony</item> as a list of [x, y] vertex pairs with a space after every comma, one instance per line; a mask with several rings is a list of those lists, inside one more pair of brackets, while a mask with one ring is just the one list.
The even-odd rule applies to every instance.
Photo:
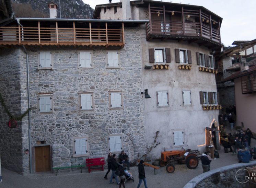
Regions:
[[171, 49], [170, 48], [150, 48], [149, 49], [150, 63], [170, 63]]

